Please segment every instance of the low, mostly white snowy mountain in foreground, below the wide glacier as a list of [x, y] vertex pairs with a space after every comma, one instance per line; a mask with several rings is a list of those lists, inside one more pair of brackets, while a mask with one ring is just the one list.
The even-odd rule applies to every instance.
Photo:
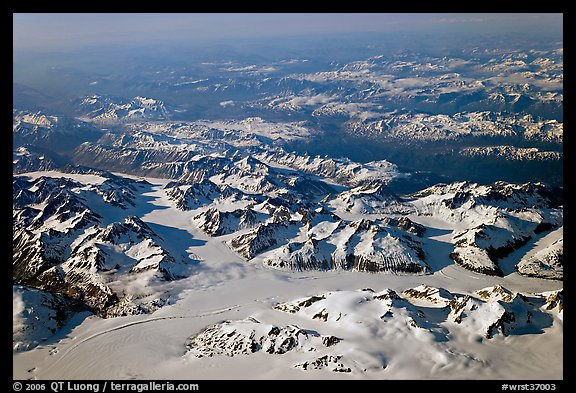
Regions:
[[[278, 302], [274, 310], [292, 315], [297, 325], [278, 326], [264, 316], [226, 320], [189, 337], [185, 356], [198, 362], [205, 357], [291, 353], [284, 367], [352, 375], [370, 375], [401, 364], [429, 370], [466, 358], [469, 367], [481, 367], [472, 353], [450, 349], [449, 337], [496, 340], [537, 334], [557, 315], [545, 300], [556, 299], [556, 293], [526, 296], [494, 286], [452, 294], [421, 285], [402, 295], [388, 288], [378, 292], [365, 288]], [[266, 315], [271, 319], [272, 314]]]

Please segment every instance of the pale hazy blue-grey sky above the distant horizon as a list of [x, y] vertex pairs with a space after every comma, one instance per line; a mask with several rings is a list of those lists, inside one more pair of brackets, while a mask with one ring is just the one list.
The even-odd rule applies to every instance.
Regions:
[[550, 33], [562, 14], [13, 14], [14, 49], [319, 33], [448, 31]]

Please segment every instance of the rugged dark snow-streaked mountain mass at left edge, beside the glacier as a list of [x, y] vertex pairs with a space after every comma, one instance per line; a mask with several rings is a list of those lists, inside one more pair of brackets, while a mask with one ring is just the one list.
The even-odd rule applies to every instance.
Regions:
[[154, 307], [140, 304], [129, 292], [117, 293], [110, 283], [118, 285], [134, 274], [144, 274], [150, 283], [173, 280], [188, 275], [189, 266], [136, 216], [102, 225], [94, 206], [125, 214], [142, 186], [106, 176], [95, 184], [14, 179], [13, 281], [75, 299], [101, 316], [150, 312]]

